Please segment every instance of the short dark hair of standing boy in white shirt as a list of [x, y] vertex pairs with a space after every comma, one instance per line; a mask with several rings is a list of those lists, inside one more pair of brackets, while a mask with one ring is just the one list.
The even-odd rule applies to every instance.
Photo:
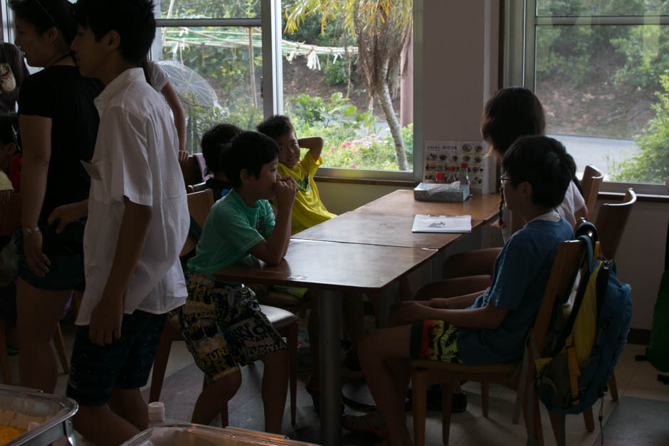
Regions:
[[75, 18], [80, 26], [93, 31], [96, 41], [116, 31], [123, 59], [139, 66], [156, 36], [153, 7], [151, 0], [78, 0]]

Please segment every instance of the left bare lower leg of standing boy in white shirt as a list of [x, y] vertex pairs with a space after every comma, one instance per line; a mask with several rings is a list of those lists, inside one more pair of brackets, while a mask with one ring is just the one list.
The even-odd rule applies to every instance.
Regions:
[[74, 428], [97, 446], [118, 446], [139, 433], [132, 423], [120, 417], [108, 405], [80, 405], [73, 418]]

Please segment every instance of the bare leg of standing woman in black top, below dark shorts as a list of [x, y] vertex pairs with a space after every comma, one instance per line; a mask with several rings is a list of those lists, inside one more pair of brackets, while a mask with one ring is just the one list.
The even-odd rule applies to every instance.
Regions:
[[53, 393], [58, 364], [51, 338], [70, 298], [70, 291], [32, 287], [19, 277], [16, 285], [16, 328], [19, 331], [21, 386]]

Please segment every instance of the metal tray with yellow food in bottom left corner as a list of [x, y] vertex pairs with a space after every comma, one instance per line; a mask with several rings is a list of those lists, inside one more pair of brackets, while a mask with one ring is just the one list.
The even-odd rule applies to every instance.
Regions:
[[12, 427], [28, 429], [28, 417], [47, 418], [36, 428], [19, 435], [6, 445], [46, 446], [64, 436], [68, 439], [68, 444], [76, 446], [72, 417], [78, 408], [77, 403], [70, 398], [42, 393], [31, 388], [0, 385], [0, 409], [27, 415], [25, 426]]

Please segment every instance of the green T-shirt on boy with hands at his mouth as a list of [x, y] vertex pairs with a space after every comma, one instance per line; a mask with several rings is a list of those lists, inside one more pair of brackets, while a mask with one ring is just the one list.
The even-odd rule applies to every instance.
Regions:
[[274, 213], [269, 201], [258, 200], [250, 208], [232, 190], [211, 207], [188, 269], [213, 279], [215, 271], [250, 255], [248, 250], [273, 229]]

